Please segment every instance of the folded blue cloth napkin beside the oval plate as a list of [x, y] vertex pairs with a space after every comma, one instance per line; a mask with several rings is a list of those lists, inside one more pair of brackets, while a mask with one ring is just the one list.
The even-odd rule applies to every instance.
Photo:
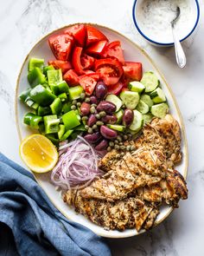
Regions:
[[67, 220], [48, 200], [33, 175], [3, 154], [0, 154], [0, 222], [10, 227], [16, 250], [22, 256], [111, 255], [102, 238]]

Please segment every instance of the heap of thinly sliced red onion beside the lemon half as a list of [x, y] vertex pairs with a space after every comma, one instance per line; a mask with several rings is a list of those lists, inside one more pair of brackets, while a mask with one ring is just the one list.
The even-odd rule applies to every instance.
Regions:
[[60, 145], [60, 158], [54, 167], [51, 180], [62, 189], [87, 187], [104, 173], [98, 167], [99, 156], [80, 135], [70, 143]]

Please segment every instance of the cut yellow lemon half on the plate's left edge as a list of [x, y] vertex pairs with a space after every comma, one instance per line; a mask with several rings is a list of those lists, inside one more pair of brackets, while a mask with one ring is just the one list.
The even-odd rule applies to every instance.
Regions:
[[54, 144], [43, 135], [29, 135], [20, 145], [22, 161], [35, 173], [47, 173], [58, 161]]

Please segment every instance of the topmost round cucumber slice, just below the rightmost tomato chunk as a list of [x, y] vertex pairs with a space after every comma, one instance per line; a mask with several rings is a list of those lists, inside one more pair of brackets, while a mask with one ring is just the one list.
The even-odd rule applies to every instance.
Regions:
[[140, 82], [142, 82], [145, 86], [146, 93], [150, 93], [159, 85], [159, 80], [157, 79], [156, 75], [151, 71], [145, 72]]

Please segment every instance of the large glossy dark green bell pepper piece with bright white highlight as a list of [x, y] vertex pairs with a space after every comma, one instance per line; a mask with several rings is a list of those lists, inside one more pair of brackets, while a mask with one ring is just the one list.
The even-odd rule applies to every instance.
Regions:
[[47, 107], [52, 102], [54, 102], [54, 99], [56, 98], [55, 95], [53, 95], [48, 89], [44, 88], [41, 84], [35, 86], [34, 89], [31, 89], [30, 98], [37, 102], [42, 107]]

